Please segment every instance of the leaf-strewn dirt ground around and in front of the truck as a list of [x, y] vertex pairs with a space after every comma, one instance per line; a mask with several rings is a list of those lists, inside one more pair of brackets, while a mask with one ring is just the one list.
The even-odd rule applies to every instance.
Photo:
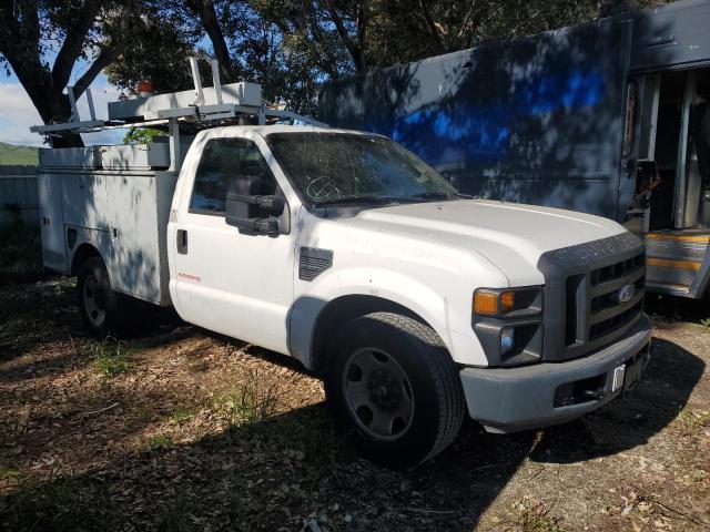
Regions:
[[97, 344], [71, 283], [0, 286], [0, 528], [710, 530], [710, 328], [653, 311], [630, 399], [537, 432], [470, 422], [390, 471], [357, 458], [285, 357], [162, 315]]

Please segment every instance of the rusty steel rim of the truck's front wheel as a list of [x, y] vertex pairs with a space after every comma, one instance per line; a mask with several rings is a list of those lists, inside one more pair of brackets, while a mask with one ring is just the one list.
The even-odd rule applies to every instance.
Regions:
[[395, 440], [412, 426], [412, 385], [402, 366], [386, 351], [367, 348], [351, 355], [343, 389], [351, 416], [369, 437]]

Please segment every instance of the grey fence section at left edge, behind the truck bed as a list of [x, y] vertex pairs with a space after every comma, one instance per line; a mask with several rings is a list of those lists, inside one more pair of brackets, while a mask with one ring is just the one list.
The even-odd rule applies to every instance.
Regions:
[[37, 166], [0, 166], [0, 225], [39, 225]]

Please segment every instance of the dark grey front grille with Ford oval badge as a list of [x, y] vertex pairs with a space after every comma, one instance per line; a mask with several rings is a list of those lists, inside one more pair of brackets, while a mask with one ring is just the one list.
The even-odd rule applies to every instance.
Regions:
[[546, 360], [585, 356], [612, 344], [643, 311], [643, 247], [629, 233], [542, 255]]

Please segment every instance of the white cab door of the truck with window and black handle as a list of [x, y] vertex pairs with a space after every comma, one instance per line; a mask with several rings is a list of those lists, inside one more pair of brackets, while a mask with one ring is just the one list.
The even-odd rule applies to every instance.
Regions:
[[258, 180], [260, 194], [281, 193], [260, 147], [245, 137], [207, 140], [200, 161], [185, 167], [169, 231], [173, 297], [186, 321], [287, 354], [295, 232], [270, 236], [226, 224], [230, 181], [243, 176]]

